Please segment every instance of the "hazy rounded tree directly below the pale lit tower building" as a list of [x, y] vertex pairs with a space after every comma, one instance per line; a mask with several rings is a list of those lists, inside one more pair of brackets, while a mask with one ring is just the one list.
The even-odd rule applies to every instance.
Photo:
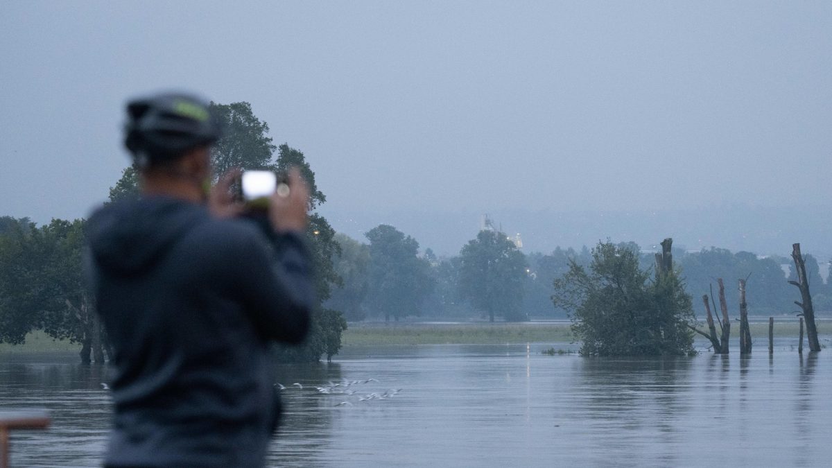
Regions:
[[460, 296], [488, 314], [488, 321], [494, 321], [495, 315], [507, 321], [528, 320], [522, 310], [526, 258], [505, 234], [480, 231], [459, 256]]

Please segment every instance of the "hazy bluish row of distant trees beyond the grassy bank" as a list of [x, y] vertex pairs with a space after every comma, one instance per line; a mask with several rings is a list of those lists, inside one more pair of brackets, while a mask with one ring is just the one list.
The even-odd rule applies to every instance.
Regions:
[[[436, 256], [419, 250], [418, 241], [395, 227], [379, 225], [364, 241], [337, 234], [339, 255], [333, 258], [341, 284], [327, 304], [344, 312], [348, 321], [399, 320], [408, 316], [447, 319], [488, 318], [506, 321], [529, 318], [567, 318], [562, 302], [552, 301], [553, 282], [594, 260], [592, 250], [557, 247], [544, 254], [523, 254], [503, 233], [479, 232], [458, 255]], [[602, 242], [607, 244], [609, 242]], [[632, 255], [642, 271], [654, 267], [654, 254], [635, 242], [615, 244]], [[747, 277], [749, 313], [782, 316], [796, 313], [795, 268], [785, 256], [760, 257], [747, 251], [711, 247], [696, 252], [674, 249], [679, 278], [686, 291], [699, 297], [710, 294], [716, 278], [734, 281]], [[815, 308], [832, 311], [832, 284], [823, 281], [820, 265], [806, 256]], [[788, 273], [787, 273], [788, 271]], [[737, 288], [726, 299], [740, 299]], [[704, 316], [705, 307], [694, 301], [693, 311]]]

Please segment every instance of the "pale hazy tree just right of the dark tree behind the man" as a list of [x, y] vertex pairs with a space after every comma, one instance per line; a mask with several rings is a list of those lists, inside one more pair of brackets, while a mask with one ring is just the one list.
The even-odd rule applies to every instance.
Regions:
[[335, 234], [340, 253], [333, 257], [341, 286], [335, 287], [325, 306], [343, 311], [349, 321], [364, 320], [364, 300], [369, 291], [369, 247], [344, 234]]

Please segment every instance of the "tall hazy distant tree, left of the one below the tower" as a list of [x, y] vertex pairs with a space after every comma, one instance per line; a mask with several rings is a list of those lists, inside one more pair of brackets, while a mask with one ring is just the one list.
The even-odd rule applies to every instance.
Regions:
[[423, 301], [433, 291], [429, 264], [418, 257], [418, 242], [395, 227], [382, 224], [365, 234], [369, 240], [368, 304], [374, 313], [418, 316]]

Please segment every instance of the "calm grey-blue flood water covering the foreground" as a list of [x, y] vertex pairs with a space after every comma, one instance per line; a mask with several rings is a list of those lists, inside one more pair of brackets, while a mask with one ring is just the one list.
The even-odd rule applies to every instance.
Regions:
[[[743, 359], [350, 347], [330, 364], [280, 366], [285, 416], [268, 465], [830, 466], [832, 351], [776, 344]], [[100, 465], [110, 369], [76, 359], [0, 356], [0, 410], [52, 413], [49, 430], [12, 433], [12, 466]]]

